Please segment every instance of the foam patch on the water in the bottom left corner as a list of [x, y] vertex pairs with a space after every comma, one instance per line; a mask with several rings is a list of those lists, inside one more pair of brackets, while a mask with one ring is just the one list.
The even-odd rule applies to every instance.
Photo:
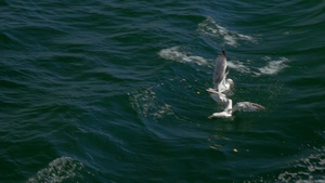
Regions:
[[30, 178], [27, 183], [63, 182], [68, 179], [82, 178], [80, 170], [83, 165], [69, 157], [60, 157], [51, 161], [48, 167], [41, 169]]

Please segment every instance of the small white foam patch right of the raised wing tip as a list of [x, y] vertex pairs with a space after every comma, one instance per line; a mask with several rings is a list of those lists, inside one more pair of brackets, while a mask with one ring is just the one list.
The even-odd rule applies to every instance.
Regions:
[[[265, 57], [265, 60], [270, 60], [270, 57]], [[286, 57], [280, 57], [277, 61], [271, 61], [269, 64], [264, 67], [258, 68], [260, 74], [257, 73], [257, 75], [275, 75], [282, 69], [288, 67], [285, 63], [289, 62]]]

